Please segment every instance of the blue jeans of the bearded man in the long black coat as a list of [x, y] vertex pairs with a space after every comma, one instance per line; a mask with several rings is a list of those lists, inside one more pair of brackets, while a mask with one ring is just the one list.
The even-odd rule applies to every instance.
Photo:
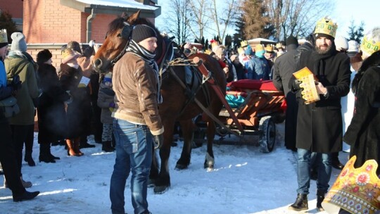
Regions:
[[315, 155], [315, 165], [317, 165], [317, 190], [327, 193], [331, 177], [331, 156], [330, 153], [312, 153], [310, 150], [297, 149], [297, 182], [298, 194], [309, 194], [310, 188], [310, 166], [311, 156]]

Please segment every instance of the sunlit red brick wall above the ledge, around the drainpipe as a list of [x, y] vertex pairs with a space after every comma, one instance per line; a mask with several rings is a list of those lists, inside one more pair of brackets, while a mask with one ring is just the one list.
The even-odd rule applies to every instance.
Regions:
[[[24, 0], [23, 32], [27, 43], [67, 43], [72, 40], [87, 42], [87, 17], [90, 14], [61, 6], [59, 2]], [[91, 39], [99, 43], [104, 42], [108, 23], [116, 17], [96, 14], [91, 24]]]

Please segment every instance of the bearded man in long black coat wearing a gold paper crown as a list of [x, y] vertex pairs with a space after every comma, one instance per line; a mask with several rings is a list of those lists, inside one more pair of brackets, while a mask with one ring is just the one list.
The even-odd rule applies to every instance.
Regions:
[[[342, 149], [341, 97], [350, 90], [350, 59], [338, 53], [334, 44], [336, 24], [322, 18], [315, 27], [315, 47], [300, 54], [297, 70], [309, 68], [315, 75], [319, 101], [305, 104], [298, 80], [290, 84], [298, 101], [297, 137], [297, 199], [291, 210], [308, 210], [310, 187], [310, 156], [317, 153], [317, 209], [322, 208], [329, 189], [331, 153]], [[302, 87], [303, 85], [301, 85]]]

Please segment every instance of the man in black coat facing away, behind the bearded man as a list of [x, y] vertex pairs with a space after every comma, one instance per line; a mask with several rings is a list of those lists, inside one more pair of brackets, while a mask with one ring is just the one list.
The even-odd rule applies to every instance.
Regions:
[[277, 90], [284, 92], [286, 97], [285, 146], [296, 151], [296, 127], [298, 103], [296, 95], [289, 88], [289, 81], [296, 70], [296, 55], [298, 40], [289, 36], [286, 39], [286, 53], [274, 61], [273, 84]]

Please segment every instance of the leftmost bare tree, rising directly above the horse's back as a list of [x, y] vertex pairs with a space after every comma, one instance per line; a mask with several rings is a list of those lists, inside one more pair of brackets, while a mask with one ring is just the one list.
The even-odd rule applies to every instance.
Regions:
[[165, 30], [175, 36], [178, 44], [184, 44], [190, 38], [189, 2], [190, 0], [170, 0], [172, 10], [165, 14]]

